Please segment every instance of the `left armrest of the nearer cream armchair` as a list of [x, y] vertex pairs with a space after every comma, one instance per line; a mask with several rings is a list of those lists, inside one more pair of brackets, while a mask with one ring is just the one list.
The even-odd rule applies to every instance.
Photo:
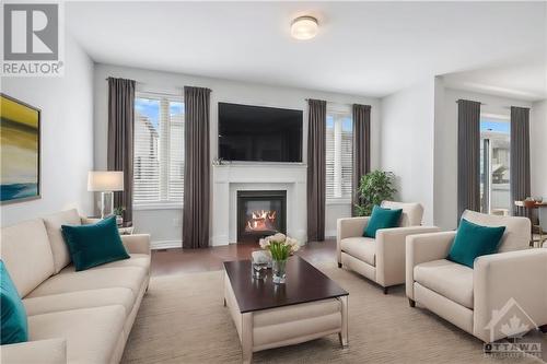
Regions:
[[410, 235], [406, 238], [406, 291], [414, 300], [414, 268], [422, 262], [444, 259], [449, 255], [456, 232]]

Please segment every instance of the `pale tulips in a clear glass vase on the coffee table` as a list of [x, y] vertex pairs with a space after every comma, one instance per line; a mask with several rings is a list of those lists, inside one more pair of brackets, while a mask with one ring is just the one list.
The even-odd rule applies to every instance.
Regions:
[[271, 255], [274, 283], [284, 283], [287, 277], [287, 259], [300, 248], [299, 242], [284, 234], [277, 233], [276, 235], [260, 239], [260, 247], [268, 250]]

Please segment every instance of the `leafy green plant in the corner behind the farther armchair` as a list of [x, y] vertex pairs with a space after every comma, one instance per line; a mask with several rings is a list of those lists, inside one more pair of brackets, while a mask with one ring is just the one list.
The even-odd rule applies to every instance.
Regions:
[[361, 177], [358, 188], [359, 203], [354, 206], [356, 215], [370, 216], [372, 208], [384, 200], [393, 200], [397, 191], [392, 172], [373, 171]]

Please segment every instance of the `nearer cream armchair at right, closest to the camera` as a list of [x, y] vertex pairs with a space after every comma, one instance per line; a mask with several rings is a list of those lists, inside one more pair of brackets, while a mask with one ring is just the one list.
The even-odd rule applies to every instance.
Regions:
[[484, 342], [507, 337], [494, 326], [508, 322], [500, 313], [512, 306], [532, 320], [523, 324], [545, 328], [547, 249], [529, 249], [529, 220], [473, 211], [462, 218], [505, 226], [499, 253], [478, 257], [472, 269], [446, 259], [456, 232], [409, 236], [406, 293], [410, 306], [418, 303]]

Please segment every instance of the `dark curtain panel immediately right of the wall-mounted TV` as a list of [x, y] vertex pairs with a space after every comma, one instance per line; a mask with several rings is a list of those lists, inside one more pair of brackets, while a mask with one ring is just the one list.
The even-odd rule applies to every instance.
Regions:
[[307, 240], [325, 239], [325, 133], [327, 103], [307, 101]]

